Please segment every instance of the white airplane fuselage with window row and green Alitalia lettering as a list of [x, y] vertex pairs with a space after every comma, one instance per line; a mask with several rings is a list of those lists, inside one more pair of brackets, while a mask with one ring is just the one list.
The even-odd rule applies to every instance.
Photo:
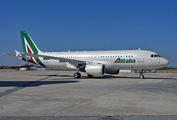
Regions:
[[[66, 59], [82, 60], [105, 65], [105, 69], [146, 70], [166, 67], [169, 62], [157, 53], [146, 50], [117, 50], [117, 51], [83, 51], [83, 52], [41, 52], [40, 55], [49, 55]], [[43, 58], [39, 59], [46, 67], [72, 68], [68, 62]]]

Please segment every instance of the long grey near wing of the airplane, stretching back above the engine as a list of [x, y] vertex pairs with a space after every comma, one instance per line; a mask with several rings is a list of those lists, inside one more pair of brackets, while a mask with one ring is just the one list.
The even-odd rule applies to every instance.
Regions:
[[61, 57], [55, 57], [55, 56], [49, 56], [49, 55], [39, 55], [39, 54], [29, 54], [29, 53], [21, 53], [21, 54], [25, 56], [30, 56], [30, 57], [42, 57], [44, 60], [53, 59], [53, 60], [59, 60], [60, 62], [69, 62], [70, 64], [76, 67], [82, 66], [86, 63], [87, 64], [92, 63], [92, 62], [83, 61], [83, 60], [67, 59], [67, 58], [61, 58]]

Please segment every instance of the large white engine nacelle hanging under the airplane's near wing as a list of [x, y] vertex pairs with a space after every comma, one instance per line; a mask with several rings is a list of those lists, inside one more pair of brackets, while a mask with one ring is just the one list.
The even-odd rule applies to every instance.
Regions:
[[102, 76], [105, 72], [105, 65], [103, 64], [92, 64], [86, 65], [85, 72], [89, 75]]

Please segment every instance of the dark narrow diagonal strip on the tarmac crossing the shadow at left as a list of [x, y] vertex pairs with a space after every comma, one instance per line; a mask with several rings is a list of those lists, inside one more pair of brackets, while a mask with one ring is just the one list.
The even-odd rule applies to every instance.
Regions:
[[[58, 73], [57, 73], [57, 74], [58, 74]], [[55, 74], [55, 75], [57, 75], [57, 74]], [[36, 81], [27, 82], [27, 83], [25, 83], [25, 84], [23, 84], [23, 85], [21, 85], [21, 86], [16, 87], [16, 88], [12, 88], [12, 89], [6, 90], [6, 91], [0, 93], [0, 97], [3, 97], [3, 96], [8, 95], [8, 94], [11, 94], [11, 93], [16, 92], [16, 91], [18, 91], [18, 90], [21, 90], [21, 89], [27, 87], [27, 86], [28, 86], [29, 84], [31, 84], [31, 83], [35, 83], [35, 82], [38, 82], [38, 81], [43, 81], [43, 80], [48, 79], [48, 78], [50, 78], [50, 77], [53, 77], [53, 75], [52, 75], [52, 76], [45, 77], [45, 78], [42, 78], [42, 79], [39, 79], [39, 80], [36, 80]]]

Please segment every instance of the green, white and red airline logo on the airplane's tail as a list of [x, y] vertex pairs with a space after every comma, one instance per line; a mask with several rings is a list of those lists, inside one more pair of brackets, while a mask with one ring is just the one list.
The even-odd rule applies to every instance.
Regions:
[[[20, 31], [20, 34], [24, 53], [38, 54], [41, 52], [26, 31]], [[28, 61], [37, 65], [45, 66], [38, 57], [30, 57]]]

